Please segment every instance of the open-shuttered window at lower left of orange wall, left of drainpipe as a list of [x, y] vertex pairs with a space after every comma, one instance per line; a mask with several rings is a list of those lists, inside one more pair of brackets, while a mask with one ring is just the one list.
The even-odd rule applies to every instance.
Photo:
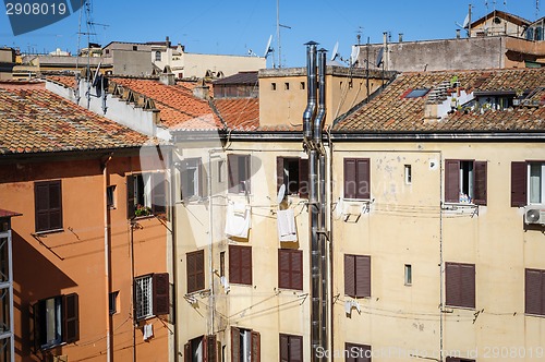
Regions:
[[33, 305], [34, 345], [48, 349], [80, 339], [80, 310], [76, 293], [43, 299]]

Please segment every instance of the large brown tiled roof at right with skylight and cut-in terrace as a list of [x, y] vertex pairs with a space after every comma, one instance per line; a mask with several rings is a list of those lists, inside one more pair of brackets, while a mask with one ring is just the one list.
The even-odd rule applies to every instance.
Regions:
[[[455, 111], [426, 121], [424, 109], [434, 88], [458, 76], [459, 89], [472, 92], [531, 92], [534, 104], [506, 110]], [[402, 73], [368, 104], [362, 102], [335, 122], [335, 132], [464, 132], [545, 130], [545, 72], [540, 69]], [[419, 98], [411, 89], [431, 88]], [[541, 89], [541, 90], [540, 90]], [[450, 89], [456, 92], [456, 89]], [[533, 92], [533, 93], [532, 93]], [[524, 105], [526, 100], [522, 101]], [[530, 105], [528, 105], [530, 106]]]

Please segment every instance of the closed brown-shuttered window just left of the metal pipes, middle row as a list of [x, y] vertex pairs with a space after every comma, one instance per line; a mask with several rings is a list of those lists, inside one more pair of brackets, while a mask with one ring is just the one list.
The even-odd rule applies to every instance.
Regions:
[[278, 288], [303, 290], [303, 252], [278, 250]]

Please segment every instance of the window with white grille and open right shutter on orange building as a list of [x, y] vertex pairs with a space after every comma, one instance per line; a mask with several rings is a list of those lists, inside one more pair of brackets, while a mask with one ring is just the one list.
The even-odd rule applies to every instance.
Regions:
[[152, 274], [134, 279], [134, 311], [136, 321], [169, 314], [169, 275]]

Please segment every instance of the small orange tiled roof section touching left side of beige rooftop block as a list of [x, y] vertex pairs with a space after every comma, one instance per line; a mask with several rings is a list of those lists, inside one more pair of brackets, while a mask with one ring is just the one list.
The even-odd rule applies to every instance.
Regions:
[[257, 98], [219, 98], [214, 105], [230, 130], [253, 131], [259, 126]]

